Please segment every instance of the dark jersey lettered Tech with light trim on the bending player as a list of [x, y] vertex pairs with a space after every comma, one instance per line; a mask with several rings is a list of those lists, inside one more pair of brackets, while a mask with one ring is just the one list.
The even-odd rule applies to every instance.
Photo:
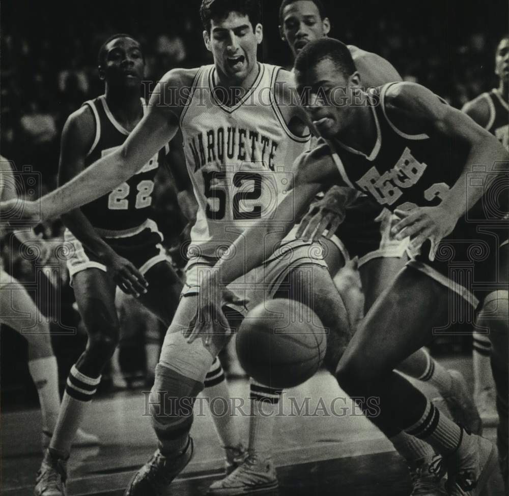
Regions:
[[438, 205], [462, 173], [468, 148], [447, 138], [410, 136], [397, 129], [384, 105], [391, 84], [372, 90], [377, 140], [369, 156], [340, 141], [329, 141], [341, 159], [338, 169], [346, 183], [389, 210]]

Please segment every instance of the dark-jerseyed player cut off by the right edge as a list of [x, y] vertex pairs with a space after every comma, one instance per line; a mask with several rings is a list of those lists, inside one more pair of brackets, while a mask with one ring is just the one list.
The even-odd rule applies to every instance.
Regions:
[[[509, 150], [509, 37], [505, 35], [498, 43], [495, 51], [495, 74], [498, 78], [498, 87], [487, 93], [479, 95], [467, 103], [463, 111], [470, 115], [480, 126], [494, 134], [506, 150]], [[474, 379], [475, 393], [483, 421], [487, 424], [499, 420], [498, 450], [500, 467], [505, 481], [507, 492], [507, 444], [509, 432], [509, 408], [507, 406], [509, 392], [507, 377], [509, 371], [507, 356], [507, 307], [509, 306], [507, 291], [498, 291], [489, 294], [485, 299], [484, 312], [479, 315], [477, 325], [489, 329], [489, 335], [474, 333]], [[489, 337], [489, 339], [488, 339]], [[491, 344], [490, 344], [491, 341]], [[493, 347], [493, 350], [491, 349]], [[497, 390], [496, 414], [494, 395], [492, 393], [492, 378], [489, 373], [489, 359]]]

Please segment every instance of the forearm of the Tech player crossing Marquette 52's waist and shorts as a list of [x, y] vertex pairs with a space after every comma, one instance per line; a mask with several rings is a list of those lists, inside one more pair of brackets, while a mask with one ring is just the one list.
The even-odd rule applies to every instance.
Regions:
[[321, 184], [305, 184], [292, 190], [277, 206], [274, 220], [260, 220], [240, 235], [232, 244], [230, 253], [221, 257], [215, 269], [220, 282], [227, 285], [241, 275], [258, 267], [286, 237], [296, 219], [309, 207], [310, 202], [322, 188]]

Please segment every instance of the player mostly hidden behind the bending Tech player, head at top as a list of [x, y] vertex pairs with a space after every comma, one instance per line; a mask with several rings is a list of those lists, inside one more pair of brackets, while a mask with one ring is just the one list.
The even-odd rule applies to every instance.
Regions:
[[[309, 42], [326, 37], [330, 21], [320, 0], [284, 0], [279, 9], [281, 38], [286, 41], [294, 57]], [[368, 86], [380, 86], [386, 82], [401, 81], [401, 76], [387, 60], [348, 45], [362, 81]], [[383, 69], [382, 69], [383, 68]], [[334, 190], [329, 190], [319, 205], [330, 212], [336, 199]], [[313, 234], [320, 222], [332, 221], [333, 216], [323, 221], [323, 216], [312, 217], [308, 212], [302, 220], [297, 236]], [[341, 255], [326, 258], [331, 274], [338, 269], [341, 260], [358, 257], [359, 272], [364, 288], [364, 312], [385, 290], [387, 281], [394, 277], [408, 261], [408, 240], [398, 241], [390, 234], [391, 216], [387, 209], [367, 196], [361, 196], [349, 206], [343, 223], [327, 236], [327, 253], [334, 254], [334, 246]], [[324, 238], [320, 238], [321, 242]], [[338, 262], [339, 261], [339, 262]], [[344, 263], [344, 261], [343, 261]], [[469, 398], [464, 378], [458, 371], [447, 371], [436, 362], [425, 349], [406, 359], [400, 371], [416, 379], [430, 382], [446, 398], [448, 407], [471, 430], [478, 432], [480, 423], [474, 405]], [[459, 403], [464, 404], [460, 407]], [[462, 411], [463, 410], [463, 411]]]

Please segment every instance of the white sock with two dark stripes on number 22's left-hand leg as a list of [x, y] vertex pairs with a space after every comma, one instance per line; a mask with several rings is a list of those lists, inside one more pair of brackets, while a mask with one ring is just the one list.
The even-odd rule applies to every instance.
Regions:
[[59, 419], [49, 443], [52, 453], [59, 456], [66, 456], [70, 453], [76, 430], [81, 425], [100, 382], [100, 376], [97, 378], [87, 377], [81, 374], [75, 365], [71, 367]]

